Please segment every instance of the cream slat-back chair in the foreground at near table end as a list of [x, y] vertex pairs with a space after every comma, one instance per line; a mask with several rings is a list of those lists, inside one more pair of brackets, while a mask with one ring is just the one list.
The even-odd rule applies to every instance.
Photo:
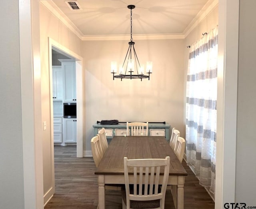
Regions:
[[[160, 180], [160, 167], [164, 167], [162, 180]], [[169, 168], [169, 156], [165, 159], [124, 157], [125, 189], [122, 188], [122, 208], [164, 209]], [[128, 173], [132, 175], [129, 177]]]

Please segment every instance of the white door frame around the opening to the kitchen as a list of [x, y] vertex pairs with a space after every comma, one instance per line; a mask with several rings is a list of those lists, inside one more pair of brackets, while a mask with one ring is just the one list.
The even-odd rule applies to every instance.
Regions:
[[[62, 46], [52, 38], [48, 37], [49, 50], [49, 78], [50, 78], [50, 113], [51, 113], [51, 141], [52, 141], [52, 165], [54, 171], [54, 140], [53, 140], [53, 102], [52, 102], [52, 48], [54, 50], [64, 53], [71, 59], [76, 60], [76, 111], [77, 111], [77, 128], [76, 128], [76, 157], [83, 157], [83, 58], [78, 54], [72, 52], [65, 46]], [[54, 178], [54, 173], [53, 173]]]

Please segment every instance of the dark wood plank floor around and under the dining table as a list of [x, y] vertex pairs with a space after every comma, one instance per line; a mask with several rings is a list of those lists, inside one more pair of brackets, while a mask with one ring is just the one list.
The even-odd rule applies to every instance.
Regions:
[[[92, 157], [76, 157], [76, 146], [55, 146], [55, 194], [44, 209], [96, 209], [98, 184]], [[188, 176], [184, 185], [184, 209], [214, 209], [206, 190], [183, 160]], [[166, 209], [174, 209], [170, 191], [166, 191]], [[106, 191], [106, 209], [122, 209], [120, 191]]]

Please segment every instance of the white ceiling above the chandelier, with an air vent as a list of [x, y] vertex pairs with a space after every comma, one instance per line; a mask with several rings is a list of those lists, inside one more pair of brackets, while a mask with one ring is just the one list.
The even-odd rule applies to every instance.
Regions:
[[[78, 0], [81, 10], [71, 10], [65, 0], [41, 0], [53, 8], [64, 22], [83, 36], [120, 36], [130, 34], [184, 34], [216, 0]], [[56, 15], [56, 14], [55, 14]]]

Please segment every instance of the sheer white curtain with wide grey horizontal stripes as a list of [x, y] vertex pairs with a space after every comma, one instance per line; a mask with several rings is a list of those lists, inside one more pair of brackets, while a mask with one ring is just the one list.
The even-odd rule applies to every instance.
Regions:
[[218, 27], [190, 46], [186, 157], [200, 184], [215, 193]]

